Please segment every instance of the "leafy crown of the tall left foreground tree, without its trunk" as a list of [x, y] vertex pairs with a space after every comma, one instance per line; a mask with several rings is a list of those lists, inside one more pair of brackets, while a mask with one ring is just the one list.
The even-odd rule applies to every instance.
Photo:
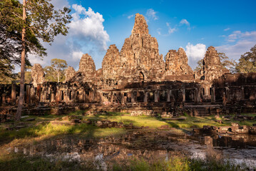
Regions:
[[26, 28], [26, 65], [30, 64], [27, 58], [29, 53], [40, 58], [46, 56], [46, 48], [43, 48], [39, 39], [50, 43], [59, 33], [68, 33], [66, 24], [71, 19], [70, 9], [65, 7], [56, 11], [50, 0], [27, 1], [24, 22], [22, 7], [23, 5], [16, 0], [0, 1], [0, 72], [4, 73], [5, 77], [11, 77], [13, 65], [21, 63], [23, 27]]

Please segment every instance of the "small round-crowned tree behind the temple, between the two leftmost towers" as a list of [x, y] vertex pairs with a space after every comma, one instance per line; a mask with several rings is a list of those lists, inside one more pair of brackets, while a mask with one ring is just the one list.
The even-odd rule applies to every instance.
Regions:
[[54, 58], [51, 60], [51, 66], [43, 68], [46, 73], [46, 81], [63, 82], [65, 80], [64, 71], [67, 68], [67, 63], [63, 59]]

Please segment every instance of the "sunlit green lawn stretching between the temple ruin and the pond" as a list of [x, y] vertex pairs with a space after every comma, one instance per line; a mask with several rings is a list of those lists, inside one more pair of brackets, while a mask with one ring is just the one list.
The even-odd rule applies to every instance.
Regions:
[[[84, 110], [78, 110], [76, 112], [69, 113], [69, 116], [75, 115], [81, 120], [111, 120], [118, 123], [130, 124], [141, 127], [149, 128], [160, 128], [161, 125], [169, 125], [171, 128], [186, 128], [187, 130], [192, 130], [192, 128], [203, 128], [203, 125], [214, 125], [214, 126], [226, 126], [231, 125], [231, 123], [239, 123], [240, 125], [250, 125], [256, 123], [255, 120], [245, 120], [236, 121], [231, 120], [226, 121], [220, 118], [217, 120], [222, 120], [222, 124], [216, 122], [216, 118], [211, 116], [206, 117], [191, 117], [190, 115], [181, 116], [185, 120], [164, 120], [163, 118], [156, 118], [146, 115], [141, 116], [131, 116], [128, 113], [108, 113], [108, 115], [83, 115]], [[2, 144], [6, 140], [15, 139], [27, 139], [33, 140], [36, 138], [51, 138], [58, 135], [78, 135], [83, 138], [103, 138], [108, 136], [119, 136], [126, 134], [126, 129], [124, 128], [98, 128], [94, 125], [86, 125], [86, 123], [81, 123], [78, 125], [55, 125], [50, 123], [51, 120], [61, 120], [64, 115], [43, 115], [43, 116], [29, 116], [29, 118], [35, 118], [34, 121], [26, 122], [28, 118], [22, 118], [21, 123], [27, 125], [26, 128], [21, 128], [19, 130], [6, 130], [15, 127], [19, 123], [2, 123], [0, 125], [0, 143]], [[32, 138], [32, 139], [31, 139]]]

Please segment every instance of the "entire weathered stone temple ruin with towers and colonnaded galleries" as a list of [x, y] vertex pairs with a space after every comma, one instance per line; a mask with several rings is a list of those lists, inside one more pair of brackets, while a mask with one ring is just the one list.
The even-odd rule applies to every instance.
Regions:
[[[109, 46], [101, 69], [96, 70], [86, 53], [78, 71], [66, 69], [63, 83], [44, 81], [39, 64], [31, 76], [32, 83], [25, 86], [25, 113], [58, 114], [78, 108], [166, 116], [256, 113], [256, 73], [230, 74], [213, 46], [198, 72], [188, 66], [183, 48], [168, 51], [163, 61], [158, 41], [140, 14], [121, 51]], [[0, 91], [0, 105], [15, 110], [19, 83], [0, 85]]]

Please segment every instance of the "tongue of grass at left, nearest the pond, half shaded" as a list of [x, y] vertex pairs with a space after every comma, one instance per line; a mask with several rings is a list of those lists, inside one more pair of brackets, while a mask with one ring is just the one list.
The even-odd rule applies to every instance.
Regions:
[[108, 136], [119, 136], [126, 133], [121, 128], [98, 128], [93, 125], [53, 125], [51, 123], [40, 124], [20, 130], [0, 130], [0, 143], [10, 142], [9, 145], [29, 144], [56, 136], [78, 135], [81, 138], [104, 138]]

